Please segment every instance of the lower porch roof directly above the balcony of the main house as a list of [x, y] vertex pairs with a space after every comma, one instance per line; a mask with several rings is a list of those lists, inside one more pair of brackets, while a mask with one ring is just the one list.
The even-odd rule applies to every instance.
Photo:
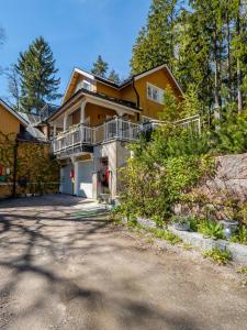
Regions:
[[122, 106], [122, 107], [125, 107], [125, 108], [130, 108], [130, 110], [134, 110], [134, 111], [142, 111], [141, 108], [136, 107], [136, 105], [134, 102], [131, 102], [131, 101], [125, 101], [125, 100], [122, 100], [122, 99], [117, 99], [117, 98], [113, 98], [113, 97], [110, 97], [110, 96], [106, 96], [104, 94], [101, 94], [101, 92], [96, 92], [96, 91], [90, 91], [88, 89], [85, 89], [85, 88], [80, 88], [77, 92], [75, 92], [72, 95], [72, 97], [70, 99], [68, 99], [64, 105], [61, 105], [57, 111], [55, 111], [48, 120], [52, 120], [58, 112], [60, 112], [61, 109], [64, 109], [69, 102], [71, 102], [74, 99], [76, 99], [77, 97], [79, 96], [91, 96], [93, 98], [97, 98], [97, 99], [103, 99], [103, 100], [106, 100], [109, 102], [112, 102], [112, 103], [115, 103], [115, 105], [119, 105], [119, 106]]

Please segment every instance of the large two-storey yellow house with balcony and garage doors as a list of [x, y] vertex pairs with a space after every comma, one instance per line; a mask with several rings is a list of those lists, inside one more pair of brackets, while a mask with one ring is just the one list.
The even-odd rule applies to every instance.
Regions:
[[158, 119], [164, 92], [182, 90], [167, 65], [121, 85], [75, 68], [61, 106], [49, 117], [53, 152], [60, 163], [60, 193], [98, 199], [121, 190], [119, 169], [144, 121]]

